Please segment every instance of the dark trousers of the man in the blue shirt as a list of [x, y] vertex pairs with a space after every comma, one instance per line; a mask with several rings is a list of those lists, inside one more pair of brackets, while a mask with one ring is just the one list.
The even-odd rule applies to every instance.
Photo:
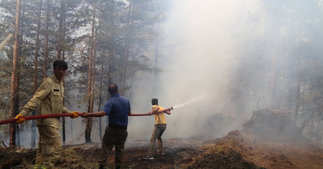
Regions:
[[107, 157], [115, 146], [115, 165], [122, 165], [123, 151], [125, 149], [125, 142], [128, 137], [128, 131], [124, 129], [116, 129], [112, 127], [106, 127], [105, 133], [102, 138], [102, 147], [99, 155], [99, 164], [106, 166]]

